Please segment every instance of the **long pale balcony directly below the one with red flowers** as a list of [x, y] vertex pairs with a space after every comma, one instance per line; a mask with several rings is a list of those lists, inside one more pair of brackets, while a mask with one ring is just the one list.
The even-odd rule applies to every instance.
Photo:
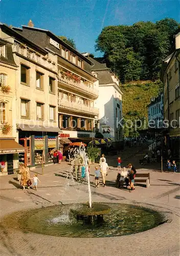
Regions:
[[72, 101], [69, 99], [58, 98], [58, 106], [59, 108], [72, 110], [75, 112], [81, 112], [85, 114], [99, 115], [99, 109], [93, 108], [92, 106], [88, 106], [82, 103], [78, 103], [76, 101]]

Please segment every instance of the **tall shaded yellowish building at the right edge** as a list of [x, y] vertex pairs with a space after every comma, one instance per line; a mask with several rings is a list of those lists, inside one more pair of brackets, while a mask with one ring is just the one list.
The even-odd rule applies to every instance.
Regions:
[[175, 36], [175, 50], [163, 60], [164, 119], [168, 120], [167, 145], [179, 157], [180, 146], [180, 33]]

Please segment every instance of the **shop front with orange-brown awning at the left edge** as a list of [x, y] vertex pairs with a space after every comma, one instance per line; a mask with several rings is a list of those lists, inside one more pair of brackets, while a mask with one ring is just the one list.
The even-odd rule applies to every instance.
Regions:
[[0, 175], [10, 175], [18, 169], [18, 154], [25, 153], [25, 147], [14, 139], [0, 139]]

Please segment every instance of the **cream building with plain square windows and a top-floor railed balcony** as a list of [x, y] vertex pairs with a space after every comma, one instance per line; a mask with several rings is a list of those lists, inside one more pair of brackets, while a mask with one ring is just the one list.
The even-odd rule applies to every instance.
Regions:
[[52, 162], [49, 152], [58, 147], [57, 57], [1, 25], [2, 38], [11, 41], [16, 70], [12, 127], [14, 137], [25, 147], [19, 163], [27, 166]]

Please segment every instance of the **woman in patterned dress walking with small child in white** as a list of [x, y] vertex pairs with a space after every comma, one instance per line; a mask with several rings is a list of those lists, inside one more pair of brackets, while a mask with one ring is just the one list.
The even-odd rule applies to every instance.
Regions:
[[25, 164], [20, 164], [19, 174], [21, 175], [20, 185], [22, 186], [23, 190], [25, 190], [26, 186], [28, 187], [28, 189], [30, 188], [32, 184], [31, 180], [33, 180], [33, 185], [35, 187], [35, 190], [37, 190], [37, 182], [40, 182], [40, 180], [37, 178], [37, 174], [34, 174], [33, 178], [30, 178], [29, 170], [27, 169]]

